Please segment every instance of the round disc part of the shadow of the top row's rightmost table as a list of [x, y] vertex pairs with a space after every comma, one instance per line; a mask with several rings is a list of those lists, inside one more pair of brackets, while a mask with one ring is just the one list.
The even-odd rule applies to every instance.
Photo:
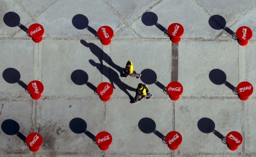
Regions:
[[220, 30], [226, 26], [226, 20], [220, 15], [213, 15], [208, 20], [213, 29]]

